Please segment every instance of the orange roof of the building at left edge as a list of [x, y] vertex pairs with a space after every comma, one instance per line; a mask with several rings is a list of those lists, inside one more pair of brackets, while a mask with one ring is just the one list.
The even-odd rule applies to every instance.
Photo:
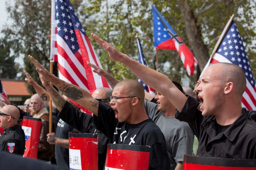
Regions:
[[7, 96], [30, 96], [26, 83], [21, 80], [1, 79]]

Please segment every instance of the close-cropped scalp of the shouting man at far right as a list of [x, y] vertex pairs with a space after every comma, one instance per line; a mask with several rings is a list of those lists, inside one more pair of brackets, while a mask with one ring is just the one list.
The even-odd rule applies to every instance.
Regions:
[[233, 82], [234, 90], [238, 97], [242, 97], [246, 88], [246, 77], [241, 67], [231, 63], [214, 63], [209, 66], [216, 69], [219, 81], [223, 83]]

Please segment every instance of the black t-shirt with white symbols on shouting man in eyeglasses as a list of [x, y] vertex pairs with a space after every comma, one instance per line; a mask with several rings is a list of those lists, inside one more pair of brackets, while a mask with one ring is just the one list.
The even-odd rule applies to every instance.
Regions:
[[139, 124], [118, 122], [115, 111], [99, 102], [98, 117], [93, 116], [94, 126], [103, 132], [110, 143], [150, 146], [148, 169], [170, 169], [165, 139], [160, 128], [147, 119]]

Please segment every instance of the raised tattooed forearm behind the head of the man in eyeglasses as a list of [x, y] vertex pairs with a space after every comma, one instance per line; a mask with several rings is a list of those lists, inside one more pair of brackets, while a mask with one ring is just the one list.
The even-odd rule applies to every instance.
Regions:
[[112, 75], [110, 75], [108, 72], [106, 72], [105, 70], [101, 69], [98, 66], [95, 66], [94, 64], [90, 63], [87, 61], [87, 65], [94, 68], [93, 72], [97, 73], [100, 76], [103, 76], [106, 78], [106, 80], [108, 81], [108, 83], [110, 84], [110, 86], [112, 87], [112, 89], [114, 89], [114, 87], [116, 86], [117, 83], [119, 83], [118, 80], [116, 80], [115, 77], [113, 77]]

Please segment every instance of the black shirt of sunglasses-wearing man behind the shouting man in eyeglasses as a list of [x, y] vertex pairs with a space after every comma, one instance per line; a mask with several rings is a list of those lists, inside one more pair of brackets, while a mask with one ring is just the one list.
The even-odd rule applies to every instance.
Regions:
[[[76, 109], [72, 104], [66, 102], [61, 112], [58, 114], [64, 122], [76, 128], [82, 133], [94, 133], [95, 128], [93, 127], [92, 116], [82, 113], [80, 110]], [[108, 138], [96, 130], [98, 133], [98, 169], [102, 170], [104, 168]]]

